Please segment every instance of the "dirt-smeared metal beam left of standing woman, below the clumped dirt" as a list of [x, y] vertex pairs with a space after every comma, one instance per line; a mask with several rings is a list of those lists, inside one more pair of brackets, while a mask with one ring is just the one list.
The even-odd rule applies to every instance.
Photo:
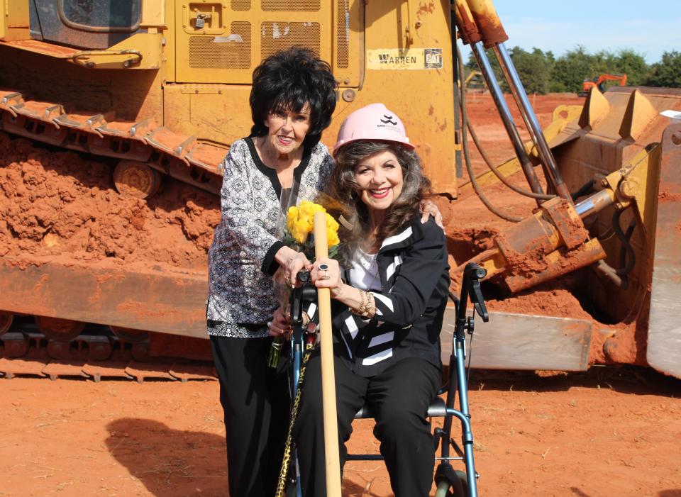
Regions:
[[0, 308], [192, 337], [206, 336], [205, 272], [0, 259]]

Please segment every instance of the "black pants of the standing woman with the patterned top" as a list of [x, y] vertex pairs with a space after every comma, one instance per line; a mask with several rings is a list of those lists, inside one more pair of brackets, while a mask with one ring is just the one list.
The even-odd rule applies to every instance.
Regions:
[[232, 497], [275, 494], [290, 405], [285, 368], [267, 367], [271, 343], [271, 338], [211, 336]]

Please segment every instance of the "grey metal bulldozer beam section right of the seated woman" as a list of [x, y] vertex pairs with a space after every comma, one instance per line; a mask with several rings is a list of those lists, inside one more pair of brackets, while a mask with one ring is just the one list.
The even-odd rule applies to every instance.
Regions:
[[[456, 313], [445, 310], [440, 341], [443, 361], [452, 353]], [[476, 369], [586, 371], [593, 323], [574, 318], [489, 311], [475, 322], [470, 365]]]

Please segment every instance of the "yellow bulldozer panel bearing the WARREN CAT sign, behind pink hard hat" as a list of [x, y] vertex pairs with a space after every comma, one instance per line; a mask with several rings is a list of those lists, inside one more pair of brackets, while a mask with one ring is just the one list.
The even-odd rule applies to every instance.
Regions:
[[[383, 102], [404, 121], [409, 138], [421, 155], [424, 170], [433, 182], [433, 189], [438, 193], [455, 194], [449, 2], [431, 2], [424, 8], [420, 8], [418, 2], [410, 2], [409, 6], [416, 11], [410, 11], [407, 18], [403, 0], [370, 1], [366, 5], [365, 78], [351, 106], [339, 103], [338, 117], [342, 120], [358, 106]], [[413, 26], [413, 43], [407, 47], [402, 28], [409, 22]], [[421, 69], [403, 70], [399, 65], [378, 69], [380, 64], [370, 67], [369, 57], [385, 50], [399, 53], [406, 48], [409, 52], [423, 54]], [[429, 54], [438, 55], [432, 67], [425, 67], [426, 49]], [[428, 61], [433, 62], [433, 58]], [[338, 118], [332, 126], [336, 125], [340, 125]], [[335, 130], [332, 128], [328, 134], [335, 136]]]

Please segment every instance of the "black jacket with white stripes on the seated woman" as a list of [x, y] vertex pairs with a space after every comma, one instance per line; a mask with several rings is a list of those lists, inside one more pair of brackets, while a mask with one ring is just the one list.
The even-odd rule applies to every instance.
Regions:
[[414, 218], [384, 240], [377, 262], [382, 291], [371, 292], [376, 315], [369, 323], [332, 301], [335, 353], [362, 376], [378, 374], [404, 357], [423, 357], [441, 367], [440, 330], [449, 288], [443, 230], [433, 218], [424, 224], [420, 216]]

